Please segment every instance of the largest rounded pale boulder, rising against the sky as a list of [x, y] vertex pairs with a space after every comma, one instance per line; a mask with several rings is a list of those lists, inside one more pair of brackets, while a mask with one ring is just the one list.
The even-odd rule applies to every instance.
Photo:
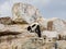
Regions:
[[41, 16], [40, 11], [35, 7], [26, 3], [15, 3], [12, 8], [12, 13], [14, 22], [33, 23]]

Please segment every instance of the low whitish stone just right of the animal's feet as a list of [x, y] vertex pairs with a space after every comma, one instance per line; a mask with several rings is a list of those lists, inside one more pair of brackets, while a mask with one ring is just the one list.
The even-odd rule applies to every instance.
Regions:
[[58, 33], [57, 32], [44, 30], [42, 33], [42, 37], [45, 39], [45, 41], [53, 42], [53, 41], [57, 40]]

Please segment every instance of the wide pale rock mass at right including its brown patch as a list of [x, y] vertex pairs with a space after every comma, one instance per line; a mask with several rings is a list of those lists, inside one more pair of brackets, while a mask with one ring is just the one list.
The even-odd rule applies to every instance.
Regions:
[[61, 19], [38, 19], [36, 22], [43, 27], [43, 30], [56, 30], [58, 33], [63, 33], [66, 30], [66, 22]]

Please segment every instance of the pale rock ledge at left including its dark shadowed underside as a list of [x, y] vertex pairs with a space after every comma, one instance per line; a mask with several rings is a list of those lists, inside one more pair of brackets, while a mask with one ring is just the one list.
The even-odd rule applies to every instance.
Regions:
[[3, 25], [0, 24], [0, 36], [4, 35], [18, 35], [26, 30], [26, 25]]

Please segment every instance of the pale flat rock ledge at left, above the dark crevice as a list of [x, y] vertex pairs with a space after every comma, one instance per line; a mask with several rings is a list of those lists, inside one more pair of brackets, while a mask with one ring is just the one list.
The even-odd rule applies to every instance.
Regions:
[[18, 33], [22, 33], [23, 29], [26, 28], [26, 24], [22, 24], [22, 25], [3, 25], [3, 24], [0, 24], [0, 33], [1, 32], [18, 32]]

